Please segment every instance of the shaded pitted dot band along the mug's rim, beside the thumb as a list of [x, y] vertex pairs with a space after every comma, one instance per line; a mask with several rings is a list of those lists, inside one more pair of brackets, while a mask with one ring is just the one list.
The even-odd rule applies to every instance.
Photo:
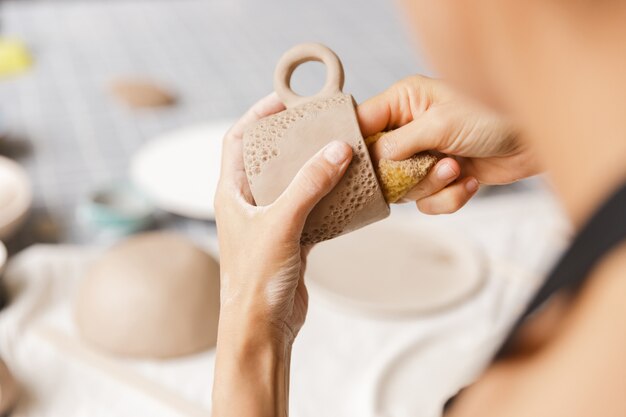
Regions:
[[322, 223], [311, 230], [305, 227], [300, 239], [303, 245], [311, 245], [339, 236], [352, 222], [355, 214], [372, 201], [378, 189], [373, 169], [368, 163], [367, 150], [362, 141], [354, 150], [352, 162], [345, 179], [333, 191], [335, 204], [331, 204]]

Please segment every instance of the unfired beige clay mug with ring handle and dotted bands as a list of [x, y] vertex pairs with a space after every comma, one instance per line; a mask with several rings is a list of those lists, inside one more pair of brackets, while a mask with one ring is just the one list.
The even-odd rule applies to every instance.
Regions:
[[[326, 66], [322, 90], [302, 97], [290, 86], [293, 71], [302, 63]], [[302, 233], [305, 245], [332, 239], [382, 220], [389, 215], [359, 123], [355, 102], [342, 92], [343, 67], [333, 51], [305, 43], [287, 51], [278, 61], [274, 89], [286, 110], [250, 125], [243, 138], [244, 164], [258, 205], [274, 202], [298, 170], [334, 140], [352, 147], [352, 162], [339, 184], [311, 211]]]

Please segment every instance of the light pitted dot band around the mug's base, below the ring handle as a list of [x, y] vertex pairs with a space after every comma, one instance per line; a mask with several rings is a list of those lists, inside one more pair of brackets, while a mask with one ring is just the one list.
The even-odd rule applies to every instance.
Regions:
[[345, 104], [350, 96], [338, 94], [327, 99], [315, 100], [259, 120], [246, 132], [249, 140], [244, 150], [244, 165], [249, 181], [259, 175], [269, 160], [278, 156], [276, 144], [297, 121], [312, 119], [318, 112]]

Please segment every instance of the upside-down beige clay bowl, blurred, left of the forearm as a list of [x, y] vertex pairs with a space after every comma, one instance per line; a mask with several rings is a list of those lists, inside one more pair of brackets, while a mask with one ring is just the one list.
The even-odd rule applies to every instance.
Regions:
[[168, 358], [215, 345], [219, 266], [187, 238], [145, 233], [113, 246], [79, 288], [79, 333], [109, 353]]

